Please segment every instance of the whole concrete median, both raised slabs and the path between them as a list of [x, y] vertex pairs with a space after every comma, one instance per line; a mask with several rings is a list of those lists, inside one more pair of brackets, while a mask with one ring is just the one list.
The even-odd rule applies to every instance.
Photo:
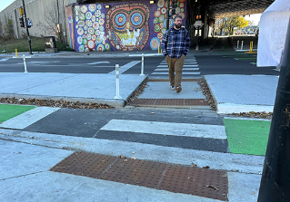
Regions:
[[[121, 98], [115, 99], [114, 74], [7, 72], [0, 73], [0, 97], [91, 101], [124, 107], [132, 93], [147, 78], [147, 75], [121, 74], [119, 90]], [[218, 113], [272, 112], [274, 109], [277, 76], [205, 75], [205, 81], [215, 99]], [[183, 91], [176, 93], [169, 90], [169, 82], [149, 82], [139, 98], [205, 99], [195, 82], [183, 83]]]

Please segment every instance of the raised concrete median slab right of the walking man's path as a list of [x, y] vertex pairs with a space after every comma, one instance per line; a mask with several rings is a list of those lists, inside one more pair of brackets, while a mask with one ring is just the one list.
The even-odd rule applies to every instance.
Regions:
[[279, 78], [270, 75], [205, 75], [219, 113], [273, 111]]

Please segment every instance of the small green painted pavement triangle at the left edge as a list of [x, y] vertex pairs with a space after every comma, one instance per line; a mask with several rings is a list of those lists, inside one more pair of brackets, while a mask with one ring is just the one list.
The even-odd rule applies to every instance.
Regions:
[[0, 104], [0, 123], [10, 120], [26, 111], [34, 109], [35, 106]]

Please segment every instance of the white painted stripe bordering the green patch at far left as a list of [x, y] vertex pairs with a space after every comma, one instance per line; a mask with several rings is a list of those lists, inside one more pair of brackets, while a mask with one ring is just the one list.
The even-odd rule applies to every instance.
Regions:
[[26, 111], [15, 118], [6, 120], [1, 124], [2, 128], [23, 130], [37, 120], [45, 118], [47, 115], [58, 111], [60, 108], [36, 107], [31, 111]]

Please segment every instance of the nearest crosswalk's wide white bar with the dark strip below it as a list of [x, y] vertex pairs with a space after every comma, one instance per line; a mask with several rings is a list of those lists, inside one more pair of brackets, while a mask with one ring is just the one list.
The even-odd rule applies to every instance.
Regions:
[[96, 139], [227, 153], [225, 126], [145, 120], [109, 120]]

